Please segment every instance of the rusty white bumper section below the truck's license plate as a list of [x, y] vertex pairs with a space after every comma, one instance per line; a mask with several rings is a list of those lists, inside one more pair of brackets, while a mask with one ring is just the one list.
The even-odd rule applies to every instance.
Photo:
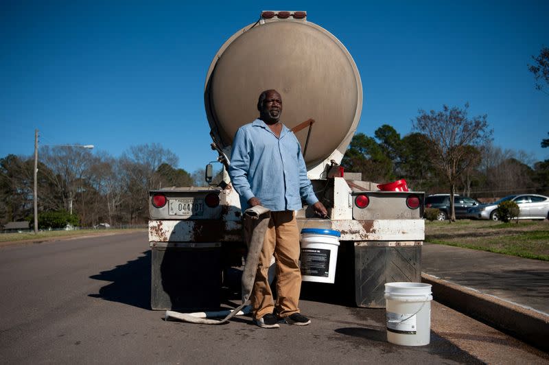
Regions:
[[150, 220], [149, 242], [241, 242], [242, 223], [223, 220]]

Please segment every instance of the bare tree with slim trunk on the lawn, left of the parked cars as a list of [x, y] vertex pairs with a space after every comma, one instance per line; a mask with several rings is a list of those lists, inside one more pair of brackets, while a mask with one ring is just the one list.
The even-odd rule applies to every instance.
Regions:
[[492, 131], [488, 129], [487, 115], [469, 118], [469, 104], [465, 108], [456, 106], [443, 110], [426, 112], [412, 121], [414, 129], [430, 139], [432, 163], [445, 176], [450, 187], [450, 220], [456, 221], [454, 193], [460, 174], [477, 161], [471, 154], [470, 146], [480, 147], [490, 140]]

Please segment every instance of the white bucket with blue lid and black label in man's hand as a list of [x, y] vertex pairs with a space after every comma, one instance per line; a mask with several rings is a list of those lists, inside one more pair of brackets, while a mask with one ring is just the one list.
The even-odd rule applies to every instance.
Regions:
[[301, 279], [334, 283], [340, 233], [331, 229], [301, 230]]

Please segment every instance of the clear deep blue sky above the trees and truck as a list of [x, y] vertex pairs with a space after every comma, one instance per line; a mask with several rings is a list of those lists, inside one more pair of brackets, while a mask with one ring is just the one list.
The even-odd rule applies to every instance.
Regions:
[[1, 1], [0, 157], [41, 144], [120, 156], [161, 143], [189, 172], [210, 150], [203, 88], [215, 52], [261, 10], [305, 10], [362, 78], [359, 132], [402, 136], [419, 108], [488, 115], [494, 145], [549, 158], [549, 95], [527, 64], [549, 47], [549, 1]]

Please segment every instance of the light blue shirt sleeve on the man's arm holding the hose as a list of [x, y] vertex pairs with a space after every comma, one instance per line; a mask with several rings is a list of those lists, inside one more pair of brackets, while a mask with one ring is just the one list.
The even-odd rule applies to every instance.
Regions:
[[229, 165], [229, 176], [238, 195], [242, 196], [246, 202], [255, 195], [250, 189], [248, 183], [248, 172], [250, 170], [250, 141], [246, 135], [246, 130], [239, 128], [233, 141], [233, 151], [231, 152], [231, 165]]

